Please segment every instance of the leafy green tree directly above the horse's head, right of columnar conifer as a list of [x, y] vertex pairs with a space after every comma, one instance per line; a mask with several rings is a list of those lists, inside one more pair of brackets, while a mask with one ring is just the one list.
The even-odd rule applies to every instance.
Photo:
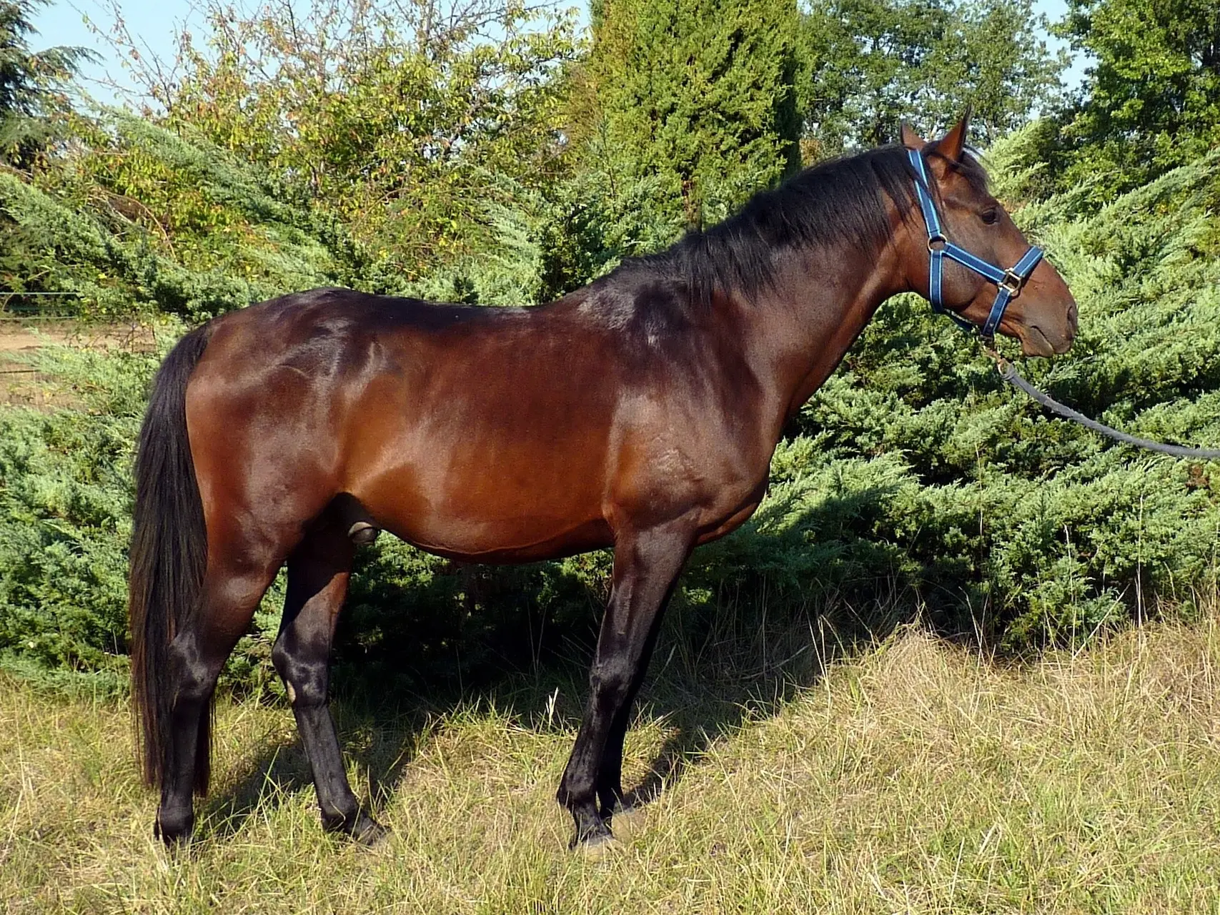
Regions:
[[814, 0], [804, 16], [806, 159], [944, 124], [969, 102], [992, 142], [1055, 98], [1064, 60], [1031, 0]]

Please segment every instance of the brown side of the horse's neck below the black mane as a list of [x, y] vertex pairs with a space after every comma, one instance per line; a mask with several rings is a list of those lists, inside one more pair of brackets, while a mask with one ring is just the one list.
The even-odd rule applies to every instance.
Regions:
[[897, 245], [882, 250], [797, 253], [752, 311], [749, 349], [784, 422], [842, 361], [877, 307], [905, 290]]

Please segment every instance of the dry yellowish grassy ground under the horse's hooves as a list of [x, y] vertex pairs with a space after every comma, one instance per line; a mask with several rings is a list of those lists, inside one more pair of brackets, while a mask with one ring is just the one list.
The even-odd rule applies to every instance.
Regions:
[[[283, 708], [221, 703], [200, 839], [151, 839], [124, 708], [0, 681], [9, 911], [1218, 911], [1220, 620], [1002, 666], [905, 631], [775, 714], [671, 759], [647, 710], [627, 782], [664, 789], [600, 856], [553, 800], [572, 722], [466, 708], [342, 716], [394, 831], [325, 836]], [[517, 709], [525, 708], [521, 702]], [[699, 700], [683, 715], [698, 720]], [[670, 760], [669, 762], [664, 760]], [[372, 782], [372, 784], [371, 784]], [[623, 832], [628, 832], [623, 830]]]

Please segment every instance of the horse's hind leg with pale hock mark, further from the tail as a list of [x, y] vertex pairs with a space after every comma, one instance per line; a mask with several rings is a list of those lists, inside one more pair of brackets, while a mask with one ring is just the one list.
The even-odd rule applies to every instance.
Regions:
[[331, 640], [354, 551], [342, 526], [331, 523], [306, 536], [288, 558], [288, 599], [271, 658], [288, 688], [323, 827], [371, 844], [384, 830], [360, 808], [348, 784], [327, 692]]

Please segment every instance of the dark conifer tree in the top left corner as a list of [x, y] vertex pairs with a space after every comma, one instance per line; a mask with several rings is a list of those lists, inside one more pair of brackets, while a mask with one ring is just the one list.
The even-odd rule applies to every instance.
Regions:
[[33, 51], [30, 18], [45, 0], [0, 0], [0, 162], [28, 166], [52, 135], [52, 118], [67, 110], [63, 90], [82, 48]]

